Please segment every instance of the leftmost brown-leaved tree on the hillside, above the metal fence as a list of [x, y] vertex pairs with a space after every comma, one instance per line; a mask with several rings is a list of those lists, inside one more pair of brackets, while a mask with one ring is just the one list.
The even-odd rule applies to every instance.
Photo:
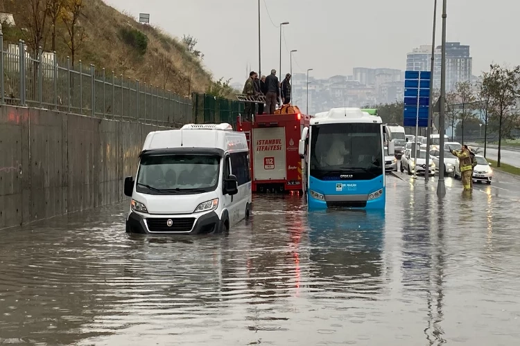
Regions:
[[18, 0], [21, 3], [21, 24], [27, 46], [33, 53], [45, 47], [47, 4], [46, 0]]

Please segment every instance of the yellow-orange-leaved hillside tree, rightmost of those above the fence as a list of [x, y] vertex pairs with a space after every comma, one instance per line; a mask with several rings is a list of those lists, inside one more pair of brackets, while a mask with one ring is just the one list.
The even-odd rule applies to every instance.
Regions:
[[67, 27], [67, 36], [64, 36], [64, 42], [71, 52], [72, 66], [74, 66], [74, 56], [83, 44], [87, 35], [82, 26], [78, 26], [78, 20], [83, 13], [83, 0], [67, 0], [64, 5], [66, 11], [62, 17], [63, 24]]

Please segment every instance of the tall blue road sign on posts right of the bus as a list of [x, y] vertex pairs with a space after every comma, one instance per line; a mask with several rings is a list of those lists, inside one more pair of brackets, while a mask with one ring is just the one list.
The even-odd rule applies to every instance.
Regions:
[[[419, 127], [428, 127], [428, 110], [430, 107], [430, 71], [406, 71], [404, 73], [404, 126], [415, 126], [415, 169], [417, 178], [417, 136]], [[428, 148], [426, 148], [427, 150]], [[428, 164], [424, 174], [429, 174]]]

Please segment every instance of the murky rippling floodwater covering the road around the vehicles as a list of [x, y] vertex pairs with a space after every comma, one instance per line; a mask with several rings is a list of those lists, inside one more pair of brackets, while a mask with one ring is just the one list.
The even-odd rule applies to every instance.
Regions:
[[387, 191], [255, 197], [216, 237], [128, 236], [126, 203], [1, 230], [0, 345], [518, 345], [519, 195]]

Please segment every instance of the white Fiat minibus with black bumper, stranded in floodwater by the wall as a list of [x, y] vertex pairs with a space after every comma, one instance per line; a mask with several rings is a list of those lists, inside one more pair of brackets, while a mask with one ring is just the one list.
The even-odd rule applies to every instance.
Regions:
[[220, 233], [252, 212], [248, 142], [227, 123], [184, 125], [146, 136], [135, 179], [127, 233]]

